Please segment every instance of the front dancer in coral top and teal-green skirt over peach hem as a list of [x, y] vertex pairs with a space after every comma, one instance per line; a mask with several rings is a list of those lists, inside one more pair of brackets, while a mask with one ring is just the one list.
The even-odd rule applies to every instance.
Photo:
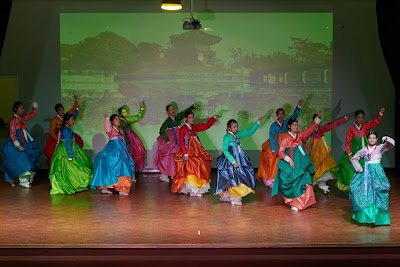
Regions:
[[292, 211], [301, 211], [316, 203], [313, 179], [314, 165], [303, 145], [304, 138], [310, 136], [321, 122], [321, 112], [303, 131], [299, 131], [297, 119], [288, 120], [289, 131], [282, 136], [278, 162], [278, 172], [271, 196], [282, 193], [285, 203]]

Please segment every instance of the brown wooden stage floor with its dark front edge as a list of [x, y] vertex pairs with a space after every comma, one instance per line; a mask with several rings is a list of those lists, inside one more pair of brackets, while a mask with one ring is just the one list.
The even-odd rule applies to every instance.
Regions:
[[215, 170], [203, 197], [172, 194], [158, 175], [137, 175], [130, 196], [91, 190], [50, 196], [47, 170], [37, 173], [32, 189], [11, 187], [1, 175], [0, 266], [400, 262], [400, 180], [394, 172], [388, 172], [391, 226], [375, 228], [351, 219], [350, 202], [335, 181], [327, 196], [315, 187], [317, 204], [296, 213], [280, 196], [271, 199], [263, 183], [245, 205], [232, 206], [212, 194]]

